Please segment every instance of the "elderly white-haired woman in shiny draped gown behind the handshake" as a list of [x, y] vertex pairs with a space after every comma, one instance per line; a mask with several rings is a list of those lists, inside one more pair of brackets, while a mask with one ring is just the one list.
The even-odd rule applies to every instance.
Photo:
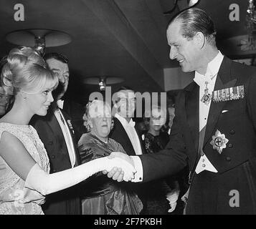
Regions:
[[[81, 162], [89, 162], [110, 155], [113, 151], [124, 152], [123, 147], [108, 137], [113, 126], [110, 106], [93, 100], [86, 106], [84, 125], [88, 133], [78, 142]], [[143, 208], [141, 200], [127, 186], [109, 179], [102, 172], [91, 177], [82, 188], [83, 215], [136, 215]]]

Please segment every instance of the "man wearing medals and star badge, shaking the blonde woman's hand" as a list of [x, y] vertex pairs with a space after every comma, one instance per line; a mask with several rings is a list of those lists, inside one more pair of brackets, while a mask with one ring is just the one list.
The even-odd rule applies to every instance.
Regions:
[[[190, 188], [186, 214], [256, 213], [256, 69], [224, 57], [214, 24], [201, 9], [182, 11], [169, 24], [170, 58], [194, 82], [176, 98], [165, 150], [141, 155], [133, 181], [174, 174], [186, 163]], [[108, 173], [120, 180], [115, 170]]]

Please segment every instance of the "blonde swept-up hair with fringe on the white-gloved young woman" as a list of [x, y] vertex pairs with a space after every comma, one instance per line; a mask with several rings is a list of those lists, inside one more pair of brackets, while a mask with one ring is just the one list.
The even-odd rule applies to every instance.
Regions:
[[43, 88], [57, 87], [58, 82], [57, 75], [31, 47], [11, 49], [1, 71], [1, 84], [9, 95], [19, 91], [37, 94]]

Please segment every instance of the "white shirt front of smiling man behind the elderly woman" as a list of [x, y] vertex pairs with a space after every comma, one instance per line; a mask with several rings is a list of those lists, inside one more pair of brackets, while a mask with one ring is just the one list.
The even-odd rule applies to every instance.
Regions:
[[115, 113], [115, 117], [120, 121], [123, 128], [125, 129], [125, 132], [128, 135], [131, 144], [133, 145], [133, 150], [135, 151], [136, 155], [142, 155], [141, 142], [135, 130], [135, 122], [133, 122], [132, 119], [130, 122], [127, 122], [124, 117], [121, 117], [117, 113]]

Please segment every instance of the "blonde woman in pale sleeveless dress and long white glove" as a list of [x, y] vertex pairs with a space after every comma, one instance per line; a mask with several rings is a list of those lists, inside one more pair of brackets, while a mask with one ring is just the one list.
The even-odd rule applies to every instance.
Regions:
[[35, 114], [47, 114], [57, 84], [57, 76], [34, 49], [11, 49], [1, 72], [1, 85], [14, 96], [14, 104], [0, 119], [0, 215], [43, 214], [44, 195], [102, 170], [121, 167], [126, 180], [133, 177], [128, 162], [109, 157], [49, 174], [47, 152], [29, 121]]

